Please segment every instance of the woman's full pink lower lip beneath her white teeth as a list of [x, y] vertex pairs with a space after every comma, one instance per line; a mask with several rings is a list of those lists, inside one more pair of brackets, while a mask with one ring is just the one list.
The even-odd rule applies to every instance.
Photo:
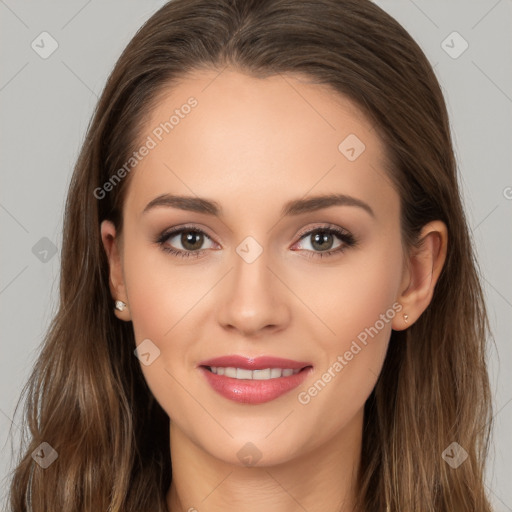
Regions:
[[200, 366], [208, 384], [224, 398], [242, 404], [262, 404], [288, 393], [302, 384], [313, 368], [308, 366], [295, 375], [268, 380], [233, 379], [217, 375]]

